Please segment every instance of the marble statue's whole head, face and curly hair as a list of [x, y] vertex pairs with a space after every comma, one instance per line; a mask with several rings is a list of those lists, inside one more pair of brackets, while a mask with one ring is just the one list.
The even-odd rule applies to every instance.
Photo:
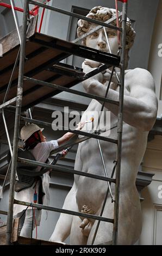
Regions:
[[[112, 17], [116, 16], [116, 10], [115, 9], [110, 9], [110, 8], [106, 8], [106, 7], [94, 7], [90, 10], [90, 13], [88, 15], [86, 15], [86, 17], [89, 17], [91, 19], [94, 20], [98, 20], [98, 21], [102, 21], [105, 22], [109, 19], [111, 19]], [[111, 25], [116, 26], [116, 20], [111, 22]], [[122, 21], [121, 21], [121, 17], [119, 18], [119, 25], [120, 27], [122, 26]], [[79, 20], [78, 21], [78, 28], [77, 28], [77, 35], [81, 36], [87, 32], [89, 32], [92, 28], [95, 28], [97, 25], [95, 25], [94, 23], [90, 23], [88, 21], [84, 21], [84, 20]], [[105, 28], [108, 34], [108, 38], [110, 39], [109, 43], [110, 43], [110, 47], [113, 47], [113, 44], [117, 44], [117, 31], [113, 30], [113, 29], [109, 29], [109, 28]], [[98, 36], [99, 36], [99, 31], [97, 32]], [[97, 33], [92, 34], [90, 36], [87, 36], [85, 39], [83, 39], [82, 44], [92, 47], [91, 45], [89, 45], [89, 41], [92, 39], [95, 39], [95, 36], [97, 36]], [[116, 37], [116, 40], [112, 41], [113, 38]], [[130, 50], [130, 48], [133, 45], [134, 42], [134, 38], [135, 38], [135, 31], [132, 28], [132, 23], [131, 21], [127, 18], [127, 25], [126, 25], [126, 55], [128, 56], [128, 51]], [[112, 42], [111, 42], [112, 41]], [[107, 44], [107, 42], [105, 41], [105, 43]], [[93, 47], [92, 47], [93, 48]], [[118, 49], [118, 44], [117, 44], [117, 49]], [[99, 49], [98, 50], [103, 50], [103, 49]], [[116, 47], [115, 47], [115, 51], [116, 51]], [[116, 52], [112, 51], [112, 53], [116, 54]]]

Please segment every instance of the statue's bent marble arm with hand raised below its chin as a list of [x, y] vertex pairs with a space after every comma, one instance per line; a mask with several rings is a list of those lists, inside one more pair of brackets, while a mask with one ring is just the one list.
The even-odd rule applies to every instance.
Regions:
[[[91, 71], [91, 66], [83, 64], [84, 72]], [[98, 96], [105, 96], [106, 87], [98, 76], [89, 78], [83, 82], [86, 92]], [[151, 130], [157, 117], [157, 97], [152, 75], [144, 69], [136, 68], [127, 73], [127, 89], [129, 95], [124, 95], [123, 121], [142, 131]], [[104, 75], [103, 75], [104, 80]], [[126, 90], [126, 87], [124, 88]], [[119, 92], [109, 89], [107, 96], [111, 100], [119, 101]], [[102, 102], [100, 102], [102, 103]], [[104, 105], [109, 111], [117, 116], [119, 106], [105, 102]]]

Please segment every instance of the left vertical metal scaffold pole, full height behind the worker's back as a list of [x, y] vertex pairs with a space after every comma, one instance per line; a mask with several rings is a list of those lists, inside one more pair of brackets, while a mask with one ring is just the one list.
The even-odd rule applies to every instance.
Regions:
[[17, 101], [16, 101], [16, 113], [15, 113], [15, 127], [14, 127], [14, 144], [13, 144], [13, 161], [11, 165], [11, 178], [10, 178], [10, 192], [9, 192], [9, 209], [7, 218], [7, 245], [11, 244], [11, 234], [13, 228], [13, 207], [14, 207], [14, 191], [15, 191], [15, 176], [17, 167], [17, 146], [18, 146], [18, 134], [20, 126], [20, 115], [22, 106], [22, 92], [23, 92], [23, 72], [24, 72], [24, 59], [26, 48], [26, 32], [27, 32], [27, 17], [28, 17], [28, 0], [24, 1], [24, 13], [22, 23], [21, 34], [21, 51], [20, 51], [20, 64], [18, 74], [18, 86], [17, 86]]

